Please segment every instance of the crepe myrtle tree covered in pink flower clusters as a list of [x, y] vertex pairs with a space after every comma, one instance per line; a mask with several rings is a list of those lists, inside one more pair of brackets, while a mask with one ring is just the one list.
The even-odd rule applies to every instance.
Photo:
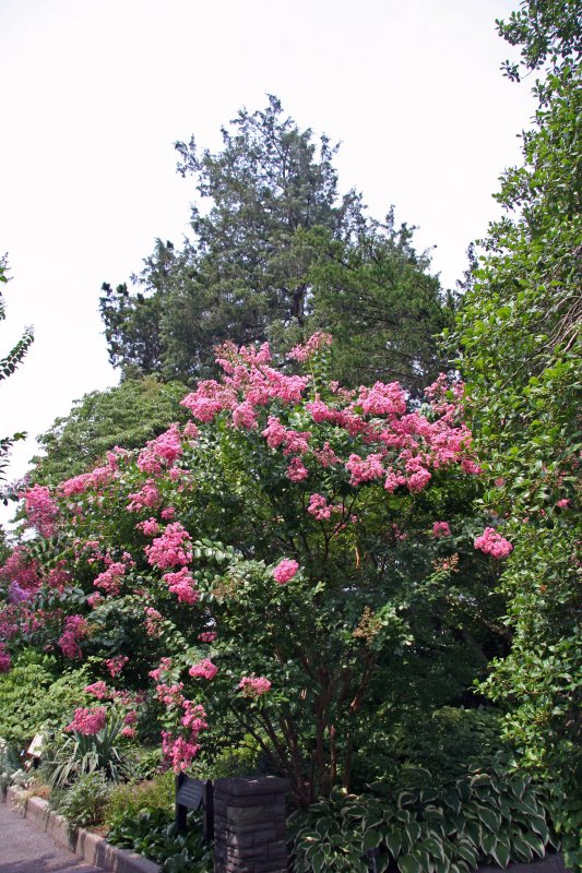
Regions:
[[266, 344], [221, 347], [186, 426], [22, 494], [37, 535], [1, 572], [4, 669], [23, 642], [91, 656], [100, 706], [150, 689], [176, 770], [228, 721], [302, 805], [349, 788], [419, 665], [486, 662], [511, 552], [492, 518], [467, 522], [462, 385], [442, 376], [414, 408], [395, 382], [344, 390], [330, 344], [285, 371]]

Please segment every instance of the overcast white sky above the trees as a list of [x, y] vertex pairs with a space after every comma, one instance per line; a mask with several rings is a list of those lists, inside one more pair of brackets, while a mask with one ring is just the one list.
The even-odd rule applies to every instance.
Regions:
[[238, 108], [274, 93], [301, 128], [343, 142], [340, 189], [391, 203], [454, 285], [497, 215], [533, 104], [499, 72], [495, 19], [518, 0], [0, 0], [0, 253], [5, 354], [0, 434], [34, 436], [74, 398], [117, 383], [97, 312], [102, 282], [138, 271], [156, 237], [180, 242], [192, 180], [173, 144], [217, 147]]

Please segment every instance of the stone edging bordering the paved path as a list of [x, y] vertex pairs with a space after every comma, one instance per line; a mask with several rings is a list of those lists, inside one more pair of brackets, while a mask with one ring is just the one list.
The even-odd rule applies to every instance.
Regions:
[[[9, 788], [8, 800], [13, 808], [16, 806], [17, 799], [19, 792], [14, 788]], [[59, 846], [74, 852], [87, 864], [100, 866], [108, 873], [161, 873], [161, 868], [153, 861], [127, 849], [118, 849], [107, 842], [105, 837], [92, 834], [91, 830], [81, 828], [76, 836], [71, 838], [67, 821], [62, 815], [51, 812], [46, 800], [28, 798], [24, 803], [24, 809], [21, 808], [21, 815], [36, 828], [52, 837]]]

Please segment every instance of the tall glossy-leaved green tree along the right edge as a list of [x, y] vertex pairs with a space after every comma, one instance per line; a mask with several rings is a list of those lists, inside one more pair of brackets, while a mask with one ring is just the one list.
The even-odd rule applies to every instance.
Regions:
[[[486, 690], [513, 704], [508, 731], [558, 784], [562, 828], [580, 834], [580, 297], [582, 98], [580, 2], [523, 2], [500, 33], [541, 79], [523, 166], [507, 171], [460, 316], [489, 489], [514, 552], [502, 577], [514, 639]], [[520, 68], [506, 64], [510, 77]], [[572, 869], [582, 847], [570, 846]]]

